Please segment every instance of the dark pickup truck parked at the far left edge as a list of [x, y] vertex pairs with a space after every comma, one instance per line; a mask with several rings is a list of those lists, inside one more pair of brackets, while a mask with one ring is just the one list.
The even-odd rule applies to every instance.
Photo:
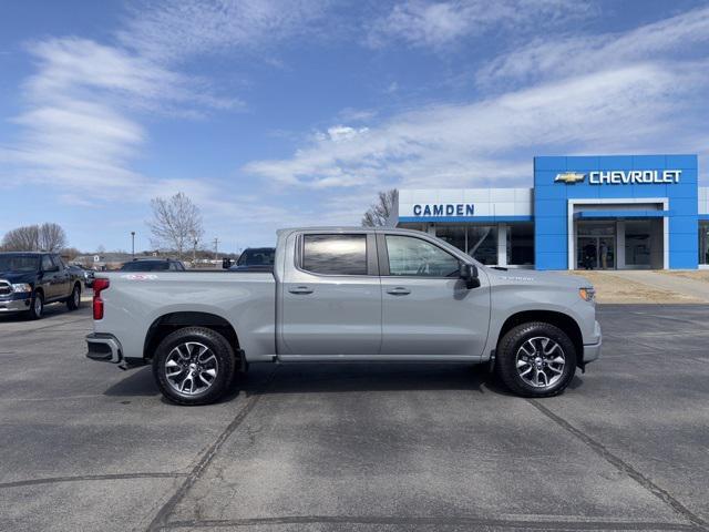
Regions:
[[53, 253], [0, 253], [0, 315], [24, 313], [39, 319], [44, 305], [81, 305], [83, 277]]

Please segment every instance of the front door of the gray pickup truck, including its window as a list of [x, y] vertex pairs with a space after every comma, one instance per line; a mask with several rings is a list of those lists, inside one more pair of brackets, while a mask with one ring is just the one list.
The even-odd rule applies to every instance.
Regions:
[[378, 235], [382, 298], [381, 355], [483, 354], [490, 285], [467, 289], [459, 259], [429, 239]]

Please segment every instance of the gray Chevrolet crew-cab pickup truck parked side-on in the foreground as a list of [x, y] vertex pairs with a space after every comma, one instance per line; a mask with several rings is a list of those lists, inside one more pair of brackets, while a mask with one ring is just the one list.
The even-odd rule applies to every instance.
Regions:
[[101, 274], [93, 314], [88, 357], [152, 364], [181, 405], [259, 361], [492, 364], [513, 392], [553, 396], [602, 339], [584, 278], [489, 268], [407, 229], [282, 229], [273, 273]]

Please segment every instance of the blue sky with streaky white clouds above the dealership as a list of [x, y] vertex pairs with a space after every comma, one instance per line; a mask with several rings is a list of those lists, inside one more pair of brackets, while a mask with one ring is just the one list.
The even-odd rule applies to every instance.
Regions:
[[0, 7], [0, 234], [150, 247], [359, 224], [389, 187], [531, 186], [544, 154], [698, 153], [709, 3], [30, 1]]

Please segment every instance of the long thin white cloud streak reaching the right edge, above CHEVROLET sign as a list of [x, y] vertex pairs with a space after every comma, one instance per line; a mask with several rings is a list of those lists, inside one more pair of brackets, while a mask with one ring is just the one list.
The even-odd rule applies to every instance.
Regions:
[[709, 8], [695, 9], [646, 24], [626, 33], [599, 33], [537, 40], [502, 54], [476, 74], [479, 85], [499, 86], [501, 81], [531, 83], [608, 69], [634, 61], [671, 58], [709, 41]]

